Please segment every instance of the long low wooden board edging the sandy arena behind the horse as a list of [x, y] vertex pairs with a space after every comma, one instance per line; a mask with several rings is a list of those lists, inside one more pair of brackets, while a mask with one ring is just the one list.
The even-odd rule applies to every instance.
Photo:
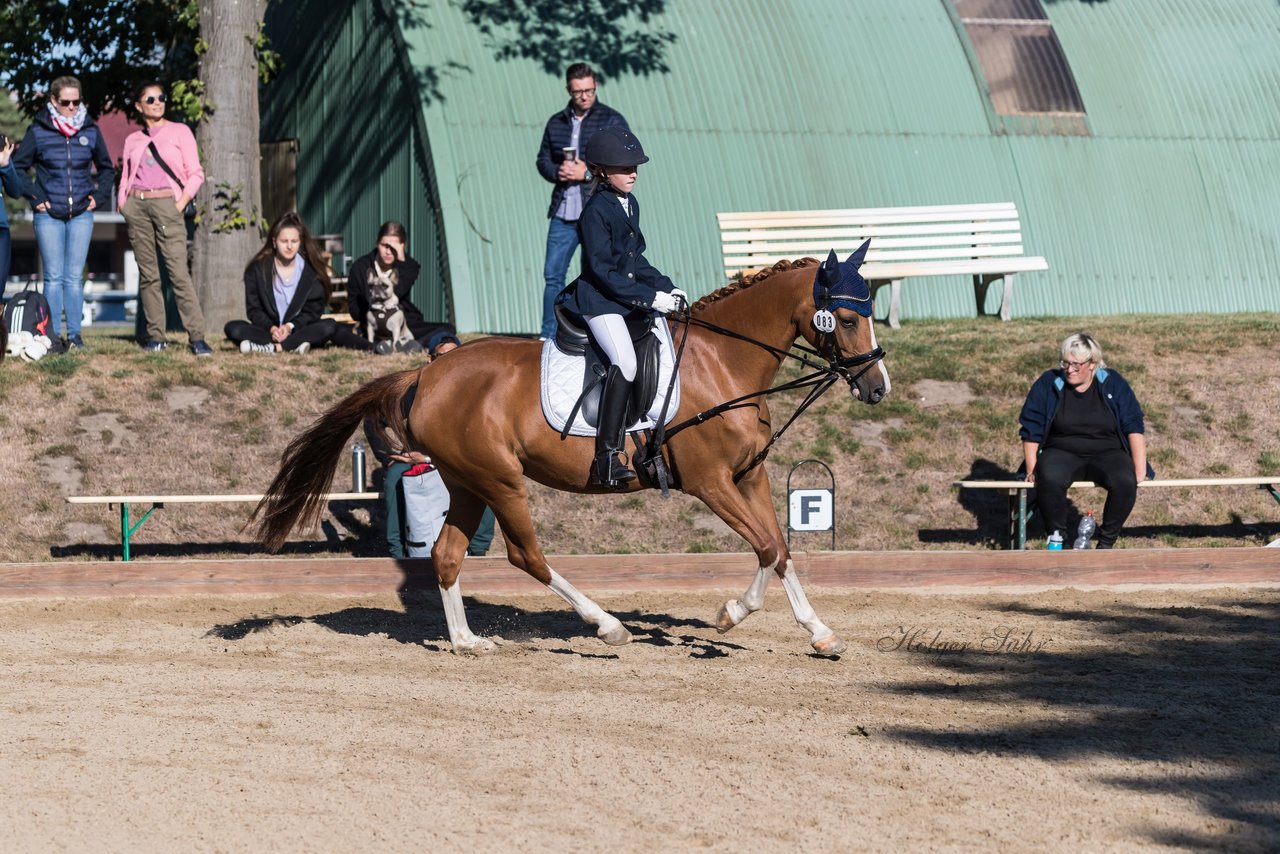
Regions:
[[[749, 552], [575, 554], [552, 566], [590, 594], [732, 590], [750, 583]], [[1280, 548], [1106, 552], [797, 552], [814, 588], [941, 589], [1147, 585], [1280, 585]], [[0, 563], [0, 599], [250, 594], [376, 594], [435, 589], [428, 560], [250, 558], [221, 561]], [[500, 557], [467, 558], [465, 595], [545, 593]], [[550, 595], [548, 593], [548, 595]]]

